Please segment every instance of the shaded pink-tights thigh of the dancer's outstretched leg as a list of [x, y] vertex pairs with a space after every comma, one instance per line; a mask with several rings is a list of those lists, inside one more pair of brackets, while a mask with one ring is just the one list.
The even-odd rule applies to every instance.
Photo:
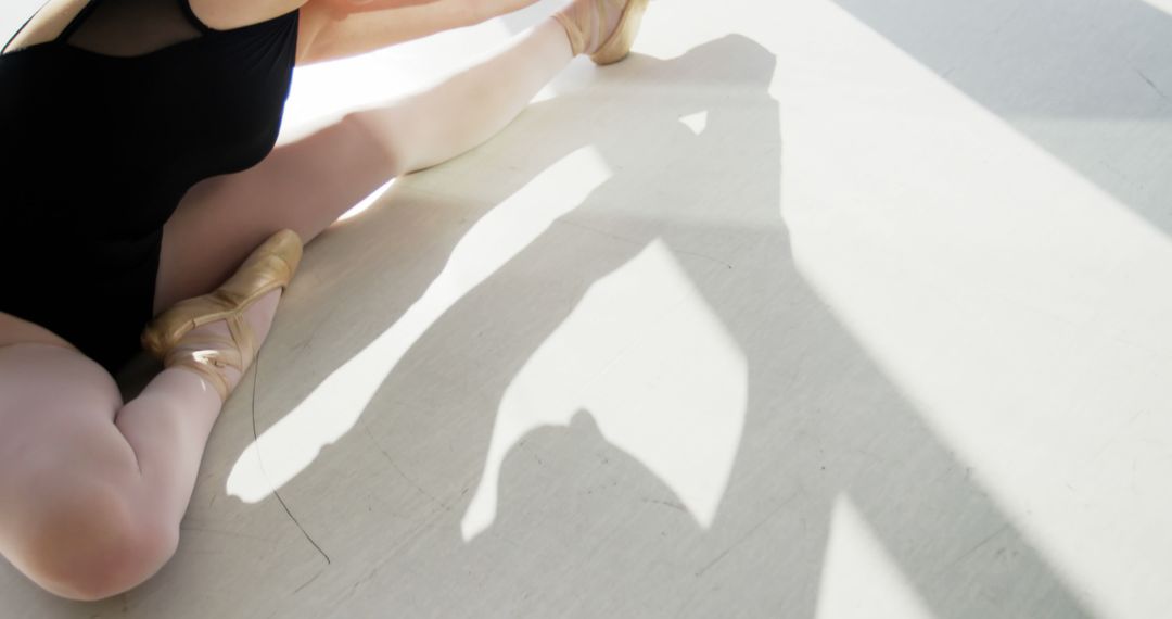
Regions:
[[214, 290], [279, 230], [308, 243], [391, 176], [368, 130], [343, 117], [254, 168], [197, 184], [163, 229], [156, 313]]

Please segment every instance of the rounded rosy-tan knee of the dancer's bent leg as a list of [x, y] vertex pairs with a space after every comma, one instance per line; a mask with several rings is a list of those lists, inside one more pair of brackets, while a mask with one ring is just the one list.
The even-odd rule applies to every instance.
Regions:
[[21, 547], [9, 558], [38, 585], [63, 598], [98, 600], [137, 586], [175, 555], [178, 523], [144, 513], [117, 488], [79, 485], [68, 496], [46, 492], [27, 510]]

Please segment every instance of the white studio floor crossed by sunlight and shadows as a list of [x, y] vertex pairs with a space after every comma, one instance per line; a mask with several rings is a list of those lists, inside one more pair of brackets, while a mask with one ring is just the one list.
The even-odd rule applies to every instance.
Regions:
[[1168, 617], [1172, 0], [656, 0], [635, 50], [307, 249], [156, 578], [0, 562], [0, 615]]

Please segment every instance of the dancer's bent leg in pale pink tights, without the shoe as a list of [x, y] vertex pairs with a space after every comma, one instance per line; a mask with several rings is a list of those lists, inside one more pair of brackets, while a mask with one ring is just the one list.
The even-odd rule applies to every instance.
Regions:
[[0, 555], [57, 596], [114, 596], [175, 552], [222, 402], [166, 369], [123, 404], [101, 366], [29, 325], [0, 314]]

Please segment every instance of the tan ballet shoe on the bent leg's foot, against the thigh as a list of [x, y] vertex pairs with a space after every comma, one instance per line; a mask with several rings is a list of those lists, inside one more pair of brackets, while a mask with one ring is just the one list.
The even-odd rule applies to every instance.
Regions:
[[[244, 311], [265, 294], [288, 286], [301, 261], [301, 238], [282, 230], [257, 247], [223, 286], [210, 294], [179, 301], [143, 331], [142, 343], [164, 367], [195, 370], [227, 400], [225, 369], [241, 374], [255, 355], [255, 338]], [[190, 334], [196, 327], [227, 321], [231, 339]]]

